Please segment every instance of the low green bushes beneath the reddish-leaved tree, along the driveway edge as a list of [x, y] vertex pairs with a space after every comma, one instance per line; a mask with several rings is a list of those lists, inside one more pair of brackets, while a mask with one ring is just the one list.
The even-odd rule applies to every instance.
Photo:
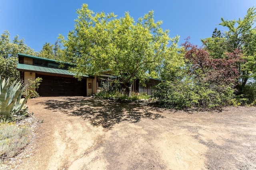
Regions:
[[234, 104], [234, 90], [229, 86], [195, 84], [192, 79], [162, 82], [156, 86], [154, 96], [161, 106], [175, 109], [215, 109]]

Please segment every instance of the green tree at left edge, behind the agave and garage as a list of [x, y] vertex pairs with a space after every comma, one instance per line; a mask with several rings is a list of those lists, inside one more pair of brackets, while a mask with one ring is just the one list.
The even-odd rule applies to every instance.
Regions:
[[0, 75], [10, 77], [11, 81], [20, 78], [17, 71], [18, 53], [36, 55], [33, 49], [24, 43], [24, 39], [19, 39], [18, 35], [11, 41], [10, 33], [4, 31], [0, 35]]

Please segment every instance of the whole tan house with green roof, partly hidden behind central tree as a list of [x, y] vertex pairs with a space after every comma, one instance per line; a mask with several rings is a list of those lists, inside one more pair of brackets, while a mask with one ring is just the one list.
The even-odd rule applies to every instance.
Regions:
[[[100, 76], [84, 75], [82, 80], [78, 81], [74, 78], [74, 74], [68, 71], [68, 67], [72, 67], [70, 63], [22, 53], [18, 53], [18, 59], [17, 70], [20, 71], [20, 78], [25, 84], [28, 79], [34, 81], [37, 77], [42, 78], [37, 90], [40, 96], [91, 96], [100, 90], [102, 81], [114, 77], [111, 75], [111, 70], [106, 70]], [[133, 91], [152, 95], [154, 93], [152, 86], [160, 81], [150, 78], [146, 86], [142, 86], [137, 79], [133, 83]]]

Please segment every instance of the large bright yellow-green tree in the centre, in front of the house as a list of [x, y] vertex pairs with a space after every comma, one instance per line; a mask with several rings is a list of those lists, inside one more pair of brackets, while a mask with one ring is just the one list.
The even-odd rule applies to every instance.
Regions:
[[75, 29], [67, 40], [60, 36], [65, 61], [76, 64], [72, 71], [77, 76], [99, 75], [110, 69], [129, 95], [134, 80], [143, 83], [158, 76], [164, 61], [177, 50], [178, 37], [171, 39], [169, 31], [163, 31], [162, 21], [154, 21], [153, 11], [134, 21], [128, 12], [116, 18], [114, 13], [94, 14], [83, 4], [77, 14]]

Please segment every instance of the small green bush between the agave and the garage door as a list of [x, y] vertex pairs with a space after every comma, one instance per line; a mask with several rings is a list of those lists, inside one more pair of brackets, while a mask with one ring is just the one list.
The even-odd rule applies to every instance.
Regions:
[[32, 81], [28, 79], [28, 82], [25, 84], [25, 89], [22, 95], [26, 98], [27, 96], [30, 96], [31, 98], [39, 97], [38, 92], [36, 92], [36, 89], [39, 88], [40, 82], [42, 82], [42, 78], [38, 77], [36, 80]]

